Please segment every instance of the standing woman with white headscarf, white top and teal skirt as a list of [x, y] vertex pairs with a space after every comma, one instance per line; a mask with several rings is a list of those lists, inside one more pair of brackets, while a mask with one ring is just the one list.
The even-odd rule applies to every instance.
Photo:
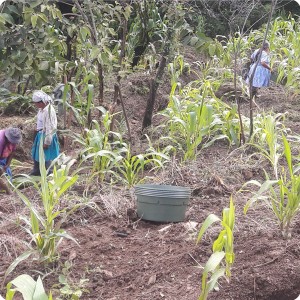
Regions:
[[35, 91], [32, 101], [39, 109], [37, 113], [36, 136], [32, 146], [32, 158], [34, 162], [30, 175], [39, 176], [39, 147], [43, 143], [45, 166], [48, 169], [53, 159], [59, 155], [59, 143], [57, 138], [57, 117], [51, 104], [52, 98], [43, 91]]

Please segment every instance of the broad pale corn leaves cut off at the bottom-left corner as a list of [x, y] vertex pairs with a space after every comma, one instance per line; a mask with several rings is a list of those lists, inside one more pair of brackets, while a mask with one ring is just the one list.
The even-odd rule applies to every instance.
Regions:
[[[52, 294], [50, 292], [47, 296], [42, 279], [39, 276], [35, 281], [31, 276], [22, 274], [10, 281], [6, 286], [6, 297], [5, 300], [15, 299], [15, 294], [19, 292], [22, 294], [24, 300], [52, 300]], [[1, 298], [0, 296], [0, 299]], [[17, 298], [19, 299], [19, 298]], [[4, 299], [3, 299], [4, 300]]]

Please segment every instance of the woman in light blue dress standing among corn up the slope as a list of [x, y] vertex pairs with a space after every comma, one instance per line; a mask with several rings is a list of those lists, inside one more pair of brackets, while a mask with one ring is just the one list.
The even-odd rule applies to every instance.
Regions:
[[270, 85], [270, 78], [272, 69], [270, 67], [270, 44], [264, 42], [262, 49], [256, 49], [251, 55], [251, 67], [247, 77], [247, 83], [250, 84], [250, 77], [254, 71], [256, 62], [259, 58], [261, 52], [260, 61], [257, 64], [253, 82], [252, 82], [252, 94], [253, 96], [257, 95], [257, 89], [260, 87], [268, 87]]

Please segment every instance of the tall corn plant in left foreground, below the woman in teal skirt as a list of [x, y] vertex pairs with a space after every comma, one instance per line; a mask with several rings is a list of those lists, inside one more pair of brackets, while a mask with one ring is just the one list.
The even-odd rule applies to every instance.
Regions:
[[21, 198], [22, 202], [27, 206], [30, 212], [30, 217], [22, 217], [24, 221], [25, 231], [31, 237], [29, 250], [21, 254], [7, 269], [4, 278], [14, 270], [14, 268], [29, 256], [38, 254], [39, 259], [48, 263], [57, 259], [57, 248], [63, 238], [76, 240], [71, 237], [65, 230], [61, 228], [66, 218], [73, 213], [81, 204], [73, 205], [72, 208], [63, 208], [60, 203], [62, 195], [70, 189], [78, 179], [78, 175], [69, 175], [70, 167], [75, 160], [69, 160], [66, 164], [61, 165], [60, 168], [54, 166], [53, 174], [47, 177], [47, 170], [45, 168], [43, 143], [39, 149], [40, 155], [40, 183], [34, 178], [24, 175], [20, 180], [20, 184], [32, 184], [41, 200], [42, 211], [39, 211], [31, 202], [31, 200], [17, 188], [16, 193]]

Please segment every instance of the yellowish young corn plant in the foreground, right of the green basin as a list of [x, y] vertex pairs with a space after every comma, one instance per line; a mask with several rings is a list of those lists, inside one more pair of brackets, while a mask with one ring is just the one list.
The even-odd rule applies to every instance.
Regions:
[[202, 273], [202, 288], [199, 300], [207, 299], [209, 292], [217, 286], [218, 280], [221, 277], [225, 276], [225, 278], [229, 280], [231, 276], [231, 267], [234, 263], [235, 257], [233, 249], [235, 206], [232, 197], [230, 198], [229, 208], [223, 209], [222, 220], [214, 214], [210, 214], [206, 218], [200, 228], [197, 243], [200, 242], [203, 234], [215, 222], [219, 222], [221, 224], [222, 230], [219, 233], [218, 238], [213, 243], [213, 254], [208, 259]]

